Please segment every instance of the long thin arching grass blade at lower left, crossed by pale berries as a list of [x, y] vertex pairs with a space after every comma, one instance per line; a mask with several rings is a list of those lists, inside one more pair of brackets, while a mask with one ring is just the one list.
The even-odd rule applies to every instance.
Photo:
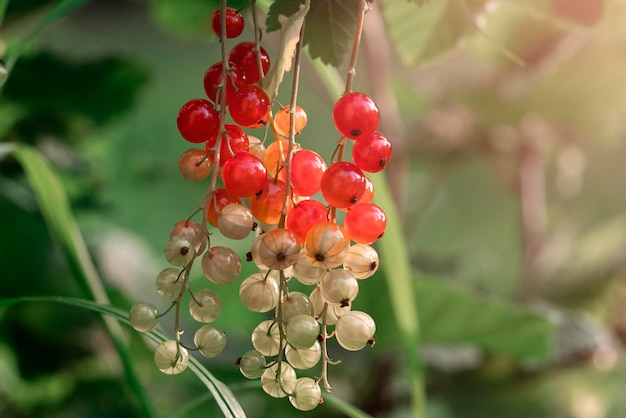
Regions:
[[[103, 305], [88, 300], [76, 298], [44, 296], [0, 299], [0, 309], [7, 309], [17, 303], [24, 302], [62, 303], [65, 305], [76, 306], [79, 308], [90, 310], [92, 312], [100, 313], [102, 315], [107, 315], [109, 317], [117, 319], [124, 324], [130, 325], [128, 321], [128, 312], [111, 305]], [[143, 335], [147, 336], [152, 341], [158, 344], [170, 339], [158, 330], [150, 331]], [[200, 381], [204, 383], [204, 385], [213, 394], [213, 396], [215, 397], [215, 401], [219, 405], [225, 417], [243, 418], [246, 416], [245, 412], [241, 408], [241, 405], [239, 404], [239, 402], [237, 402], [237, 399], [228, 388], [228, 386], [226, 386], [220, 380], [216, 379], [211, 374], [211, 372], [209, 372], [195, 357], [189, 357], [189, 369], [193, 371], [196, 376], [198, 376]]]

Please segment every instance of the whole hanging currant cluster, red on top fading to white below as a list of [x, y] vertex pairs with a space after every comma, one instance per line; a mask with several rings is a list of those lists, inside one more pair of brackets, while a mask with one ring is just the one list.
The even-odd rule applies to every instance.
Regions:
[[[365, 1], [361, 3], [352, 69], [366, 10]], [[234, 240], [255, 231], [247, 260], [255, 263], [258, 273], [243, 279], [239, 296], [250, 311], [273, 312], [273, 316], [254, 329], [254, 349], [243, 354], [238, 364], [245, 377], [260, 378], [270, 396], [289, 397], [297, 409], [311, 410], [321, 402], [321, 388], [331, 389], [328, 365], [338, 363], [328, 356], [328, 340], [335, 337], [349, 351], [374, 345], [374, 320], [352, 310], [352, 302], [360, 281], [378, 269], [378, 254], [371, 244], [386, 227], [385, 213], [372, 203], [373, 186], [364, 173], [379, 172], [389, 164], [391, 145], [377, 131], [379, 111], [374, 101], [351, 91], [354, 72], [349, 71], [346, 92], [332, 113], [341, 138], [327, 166], [318, 153], [295, 141], [307, 124], [306, 112], [296, 104], [300, 43], [291, 104], [272, 114], [273, 98], [260, 86], [270, 69], [267, 52], [258, 40], [226, 50], [226, 39], [238, 37], [244, 28], [243, 17], [233, 8], [217, 10], [212, 26], [220, 37], [223, 59], [205, 73], [207, 98], [189, 100], [177, 117], [181, 136], [203, 144], [185, 151], [179, 160], [185, 179], [211, 177], [202, 220], [180, 221], [170, 231], [165, 257], [174, 267], [164, 269], [156, 281], [157, 291], [173, 298], [170, 307], [159, 314], [154, 305], [137, 303], [131, 308], [130, 322], [136, 330], [147, 332], [175, 310], [175, 339], [155, 352], [155, 363], [164, 373], [183, 371], [189, 350], [207, 357], [219, 354], [226, 336], [210, 323], [220, 315], [220, 298], [209, 288], [192, 292], [190, 271], [201, 258], [202, 272], [211, 283], [235, 281], [242, 267], [239, 255], [227, 247], [211, 246], [207, 227], [210, 224]], [[234, 123], [225, 123], [226, 110]], [[263, 141], [244, 131], [262, 127]], [[270, 132], [275, 139], [266, 147]], [[344, 159], [349, 142], [353, 142], [352, 161]], [[323, 200], [316, 198], [320, 195]], [[290, 291], [292, 278], [313, 286], [312, 291]], [[179, 313], [186, 293], [191, 316], [206, 324], [196, 331], [194, 348], [181, 341]], [[296, 369], [311, 369], [320, 361], [317, 378], [297, 377]]]

